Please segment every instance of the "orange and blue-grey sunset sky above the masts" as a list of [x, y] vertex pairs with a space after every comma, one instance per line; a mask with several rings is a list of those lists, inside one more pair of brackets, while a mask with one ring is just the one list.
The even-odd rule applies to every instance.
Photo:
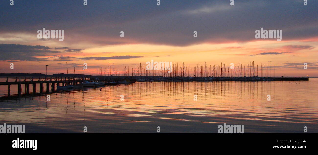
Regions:
[[[276, 76], [318, 77], [318, 1], [308, 0], [0, 1], [0, 73], [97, 75], [105, 65], [219, 65], [271, 62]], [[64, 41], [38, 30], [64, 30]], [[282, 30], [282, 40], [255, 30]], [[120, 37], [120, 32], [124, 37]], [[193, 37], [197, 31], [197, 37]], [[10, 69], [14, 63], [14, 69]], [[308, 64], [308, 69], [303, 64]]]

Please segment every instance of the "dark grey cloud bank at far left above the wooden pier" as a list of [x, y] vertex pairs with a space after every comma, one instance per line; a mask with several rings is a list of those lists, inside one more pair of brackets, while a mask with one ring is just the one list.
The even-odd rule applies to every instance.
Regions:
[[25, 61], [45, 61], [47, 58], [37, 58], [60, 51], [51, 51], [47, 46], [31, 46], [20, 44], [0, 44], [0, 60], [25, 60]]

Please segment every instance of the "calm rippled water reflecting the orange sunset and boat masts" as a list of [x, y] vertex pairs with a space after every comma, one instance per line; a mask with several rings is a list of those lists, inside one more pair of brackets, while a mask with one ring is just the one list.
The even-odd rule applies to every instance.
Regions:
[[169, 133], [217, 133], [223, 123], [245, 125], [245, 133], [303, 133], [304, 126], [317, 133], [317, 87], [318, 78], [136, 82], [58, 90], [46, 101], [45, 94], [6, 98], [7, 86], [0, 86], [0, 124], [26, 125], [26, 133], [83, 132], [84, 126], [88, 133], [156, 133], [157, 126]]

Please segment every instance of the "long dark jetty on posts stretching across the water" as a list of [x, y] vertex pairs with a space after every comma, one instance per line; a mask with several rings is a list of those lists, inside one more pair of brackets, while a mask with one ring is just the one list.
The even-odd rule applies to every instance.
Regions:
[[0, 85], [8, 86], [8, 96], [10, 96], [11, 85], [17, 85], [18, 96], [22, 93], [22, 85], [24, 85], [24, 93], [30, 93], [30, 85], [32, 93], [37, 93], [37, 84], [39, 84], [40, 93], [46, 86], [46, 93], [55, 91], [56, 86], [67, 86], [80, 84], [83, 81], [89, 82], [119, 82], [124, 80], [130, 81], [308, 81], [308, 77], [163, 77], [163, 76], [89, 76], [89, 77], [0, 77]]

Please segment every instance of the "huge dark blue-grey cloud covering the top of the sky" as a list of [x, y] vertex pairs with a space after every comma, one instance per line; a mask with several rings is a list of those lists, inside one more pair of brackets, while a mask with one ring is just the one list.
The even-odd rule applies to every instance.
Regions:
[[[64, 42], [98, 45], [247, 42], [255, 40], [255, 30], [261, 27], [282, 30], [283, 41], [317, 37], [318, 1], [310, 1], [308, 6], [301, 0], [239, 0], [234, 6], [226, 0], [156, 3], [94, 0], [83, 6], [78, 0], [32, 0], [18, 1], [12, 7], [0, 1], [0, 31], [34, 33], [36, 37], [37, 30], [44, 27], [64, 30]], [[56, 8], [59, 11], [52, 13]], [[125, 39], [119, 37], [120, 31]]]

